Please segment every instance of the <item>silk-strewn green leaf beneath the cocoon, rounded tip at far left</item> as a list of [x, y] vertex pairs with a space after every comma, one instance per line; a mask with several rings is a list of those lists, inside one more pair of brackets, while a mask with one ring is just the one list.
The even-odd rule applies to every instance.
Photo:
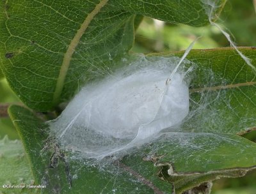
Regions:
[[[141, 181], [141, 177], [130, 172], [126, 167], [115, 163], [107, 166], [106, 170], [100, 167], [86, 166], [88, 161], [67, 160], [58, 161], [58, 167], [50, 168], [52, 149], [44, 149], [49, 144], [47, 140], [47, 126], [28, 109], [13, 105], [9, 109], [20, 138], [28, 153], [28, 160], [31, 163], [36, 184], [43, 184], [47, 187], [42, 193], [154, 193], [159, 190], [156, 186], [147, 181]], [[152, 165], [151, 165], [152, 166]], [[68, 168], [68, 170], [67, 170]], [[1, 168], [0, 168], [1, 170]], [[154, 168], [150, 169], [154, 175]], [[171, 185], [164, 183], [155, 177], [157, 186], [163, 185], [163, 191], [171, 190]], [[72, 183], [71, 183], [72, 180]], [[163, 182], [163, 183], [162, 183]]]

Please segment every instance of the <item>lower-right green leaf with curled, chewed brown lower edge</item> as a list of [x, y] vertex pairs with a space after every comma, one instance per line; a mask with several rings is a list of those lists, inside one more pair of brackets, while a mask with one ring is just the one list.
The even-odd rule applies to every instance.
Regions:
[[150, 167], [144, 163], [151, 161], [176, 193], [220, 177], [243, 176], [256, 165], [256, 144], [236, 135], [171, 133], [145, 147], [125, 158], [125, 165], [147, 177]]

